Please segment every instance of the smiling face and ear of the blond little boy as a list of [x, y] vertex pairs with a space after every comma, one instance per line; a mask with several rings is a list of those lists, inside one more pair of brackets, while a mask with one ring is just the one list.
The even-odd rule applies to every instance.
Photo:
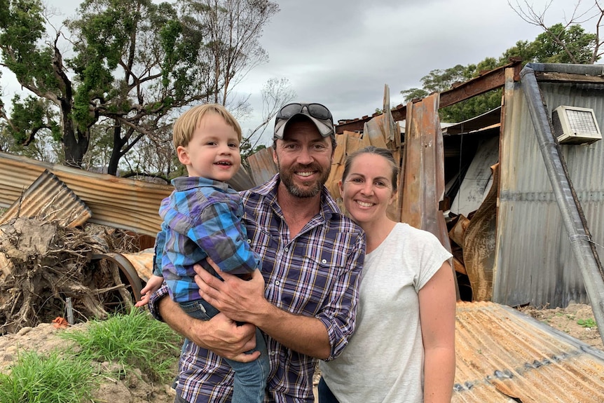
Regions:
[[177, 154], [190, 177], [226, 182], [241, 166], [237, 132], [218, 114], [207, 114]]

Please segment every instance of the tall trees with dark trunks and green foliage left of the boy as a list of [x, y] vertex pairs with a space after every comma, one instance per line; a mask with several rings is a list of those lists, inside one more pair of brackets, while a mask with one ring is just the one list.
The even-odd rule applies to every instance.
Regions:
[[[163, 142], [157, 133], [182, 109], [225, 104], [240, 72], [264, 60], [256, 57], [264, 55], [261, 27], [278, 11], [267, 0], [85, 0], [64, 22], [67, 32], [50, 35], [40, 0], [1, 1], [8, 1], [0, 8], [2, 65], [39, 103], [18, 101], [0, 117], [20, 144], [50, 130], [65, 162], [78, 167], [95, 160], [84, 156], [102, 125], [114, 175], [142, 138]], [[197, 6], [204, 13], [190, 15]], [[64, 59], [64, 48], [73, 57]]]

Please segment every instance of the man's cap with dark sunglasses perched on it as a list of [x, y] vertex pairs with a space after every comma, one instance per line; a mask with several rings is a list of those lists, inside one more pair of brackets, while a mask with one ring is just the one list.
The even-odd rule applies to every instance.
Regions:
[[336, 135], [334, 130], [334, 118], [331, 116], [331, 112], [327, 107], [315, 103], [293, 103], [285, 105], [277, 113], [273, 139], [283, 139], [287, 123], [297, 116], [303, 116], [315, 123], [315, 126], [323, 137]]

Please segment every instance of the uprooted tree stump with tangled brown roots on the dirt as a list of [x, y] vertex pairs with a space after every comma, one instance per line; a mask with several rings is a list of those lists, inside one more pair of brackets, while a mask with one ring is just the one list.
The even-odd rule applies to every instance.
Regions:
[[108, 306], [131, 308], [118, 268], [90, 262], [107, 249], [102, 236], [55, 222], [17, 218], [1, 225], [0, 334], [65, 317], [68, 297], [75, 320], [107, 317]]

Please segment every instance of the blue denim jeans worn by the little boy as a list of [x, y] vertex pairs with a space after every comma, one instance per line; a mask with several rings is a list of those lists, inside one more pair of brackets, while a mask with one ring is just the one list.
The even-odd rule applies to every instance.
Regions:
[[[180, 303], [180, 307], [189, 316], [200, 320], [210, 320], [219, 313], [219, 310], [203, 299]], [[183, 351], [188, 342], [188, 339], [185, 339], [182, 346]], [[254, 351], [260, 351], [260, 357], [252, 362], [238, 362], [224, 358], [235, 372], [231, 403], [262, 403], [264, 400], [266, 379], [268, 378], [268, 352], [266, 341], [257, 327], [256, 348], [247, 353]]]

